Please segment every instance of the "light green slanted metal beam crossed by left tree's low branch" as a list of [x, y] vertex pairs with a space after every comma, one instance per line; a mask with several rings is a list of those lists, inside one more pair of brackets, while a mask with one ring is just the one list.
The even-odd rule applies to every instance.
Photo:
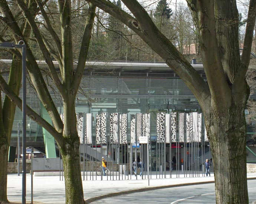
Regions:
[[[52, 124], [50, 116], [46, 111], [45, 107], [40, 103], [40, 112], [43, 119], [45, 119], [49, 124]], [[53, 136], [43, 128], [43, 140], [45, 142], [45, 154], [46, 158], [57, 158], [55, 149], [55, 139]]]

